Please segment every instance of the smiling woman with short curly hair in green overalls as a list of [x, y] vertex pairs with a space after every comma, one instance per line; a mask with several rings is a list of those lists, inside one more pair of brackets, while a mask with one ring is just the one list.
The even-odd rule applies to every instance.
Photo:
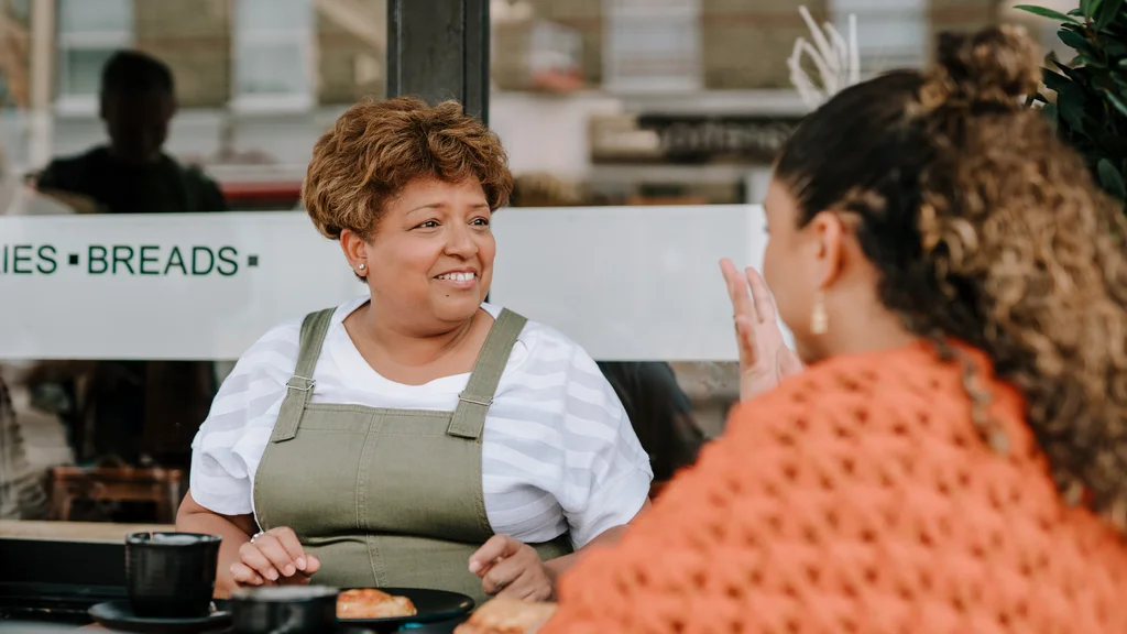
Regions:
[[547, 599], [646, 508], [648, 457], [595, 362], [485, 303], [512, 187], [452, 102], [362, 103], [317, 142], [309, 215], [369, 292], [263, 336], [196, 437], [177, 525], [223, 536], [221, 595], [313, 578]]

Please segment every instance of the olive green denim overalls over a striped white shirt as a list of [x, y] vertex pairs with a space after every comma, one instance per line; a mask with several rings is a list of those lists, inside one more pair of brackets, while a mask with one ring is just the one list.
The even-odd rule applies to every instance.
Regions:
[[[494, 532], [481, 491], [481, 432], [525, 319], [503, 310], [453, 412], [310, 403], [332, 309], [301, 326], [298, 366], [255, 475], [259, 527], [290, 527], [321, 562], [313, 582], [431, 588], [486, 599], [470, 555]], [[573, 552], [568, 534], [532, 545]]]

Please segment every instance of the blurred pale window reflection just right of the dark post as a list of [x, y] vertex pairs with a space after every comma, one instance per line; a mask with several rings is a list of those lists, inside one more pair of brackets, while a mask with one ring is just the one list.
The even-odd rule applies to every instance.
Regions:
[[604, 0], [603, 10], [607, 91], [701, 89], [700, 0]]

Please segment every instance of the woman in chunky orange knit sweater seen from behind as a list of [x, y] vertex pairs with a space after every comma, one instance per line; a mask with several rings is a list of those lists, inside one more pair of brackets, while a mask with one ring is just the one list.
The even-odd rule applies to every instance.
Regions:
[[[566, 575], [543, 633], [1127, 632], [1127, 222], [1020, 105], [1038, 61], [1014, 29], [946, 37], [802, 123], [764, 273], [807, 369]], [[755, 352], [749, 391], [792, 364]]]

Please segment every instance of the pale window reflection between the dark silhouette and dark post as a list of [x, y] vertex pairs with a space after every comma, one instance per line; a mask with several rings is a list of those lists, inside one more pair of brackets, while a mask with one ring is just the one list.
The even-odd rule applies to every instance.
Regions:
[[312, 0], [236, 0], [236, 109], [313, 106], [316, 25]]

